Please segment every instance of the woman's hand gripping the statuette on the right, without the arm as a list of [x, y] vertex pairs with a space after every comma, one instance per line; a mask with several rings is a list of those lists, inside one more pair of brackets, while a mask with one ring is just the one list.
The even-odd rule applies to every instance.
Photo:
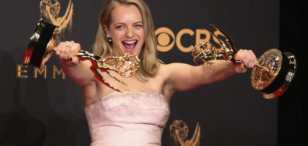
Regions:
[[256, 55], [251, 50], [238, 50], [235, 59], [241, 60], [242, 64], [235, 67], [236, 73], [245, 73], [247, 68], [253, 68], [257, 64]]

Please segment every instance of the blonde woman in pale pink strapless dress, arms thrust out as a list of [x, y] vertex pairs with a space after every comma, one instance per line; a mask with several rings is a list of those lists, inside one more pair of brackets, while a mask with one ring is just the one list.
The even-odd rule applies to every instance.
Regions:
[[115, 92], [93, 76], [89, 61], [73, 57], [80, 50], [78, 43], [67, 41], [57, 46], [63, 71], [82, 87], [92, 146], [161, 145], [170, 114], [169, 100], [175, 92], [227, 79], [256, 65], [256, 56], [250, 50], [238, 51], [236, 58], [244, 63], [237, 67], [221, 60], [206, 68], [162, 64], [156, 58], [152, 17], [143, 0], [107, 0], [99, 20], [94, 54], [105, 58], [133, 52], [139, 56], [141, 67], [131, 78], [113, 73], [128, 85], [101, 73], [124, 91]]

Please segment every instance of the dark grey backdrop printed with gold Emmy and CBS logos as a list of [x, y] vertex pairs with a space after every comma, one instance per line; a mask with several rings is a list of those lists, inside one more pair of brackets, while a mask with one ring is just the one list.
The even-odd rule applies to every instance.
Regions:
[[[60, 26], [61, 41], [73, 40], [91, 52], [103, 2], [0, 1], [1, 146], [90, 144], [81, 89], [62, 72], [58, 57], [53, 55], [43, 70], [21, 64], [29, 38], [43, 16]], [[215, 32], [210, 23], [228, 32], [238, 49], [251, 49], [257, 57], [279, 47], [278, 0], [146, 3], [154, 20], [158, 57], [166, 64], [194, 65], [193, 45], [201, 41], [218, 45], [202, 28]], [[251, 87], [250, 73], [176, 93], [162, 145], [276, 145], [277, 100], [261, 97]]]

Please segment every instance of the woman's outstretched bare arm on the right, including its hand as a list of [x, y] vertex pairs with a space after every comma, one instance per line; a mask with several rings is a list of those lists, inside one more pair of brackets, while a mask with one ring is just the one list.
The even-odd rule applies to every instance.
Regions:
[[166, 65], [168, 73], [166, 88], [171, 92], [187, 91], [204, 84], [211, 84], [229, 78], [235, 73], [244, 73], [247, 68], [256, 65], [255, 54], [251, 50], [239, 50], [235, 58], [243, 64], [234, 66], [224, 60], [216, 60], [208, 67], [191, 66], [183, 63], [171, 63]]

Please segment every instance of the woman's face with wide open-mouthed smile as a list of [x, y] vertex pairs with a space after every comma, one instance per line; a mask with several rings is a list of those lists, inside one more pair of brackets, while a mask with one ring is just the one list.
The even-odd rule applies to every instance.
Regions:
[[111, 11], [111, 24], [104, 26], [111, 36], [112, 47], [117, 54], [133, 52], [139, 55], [144, 43], [142, 16], [134, 5], [120, 5]]

